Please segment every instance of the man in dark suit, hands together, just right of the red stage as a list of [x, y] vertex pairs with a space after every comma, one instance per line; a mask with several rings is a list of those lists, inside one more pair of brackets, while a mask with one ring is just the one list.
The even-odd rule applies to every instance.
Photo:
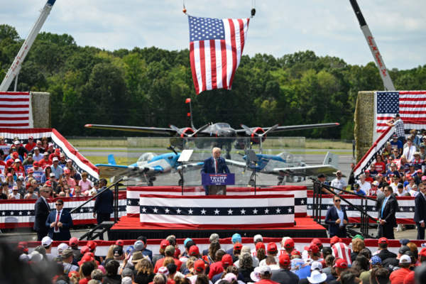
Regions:
[[330, 238], [333, 236], [346, 238], [346, 224], [349, 222], [348, 215], [340, 204], [342, 199], [339, 195], [334, 195], [333, 202], [334, 206], [329, 207], [327, 214], [325, 214], [325, 224], [329, 225]]

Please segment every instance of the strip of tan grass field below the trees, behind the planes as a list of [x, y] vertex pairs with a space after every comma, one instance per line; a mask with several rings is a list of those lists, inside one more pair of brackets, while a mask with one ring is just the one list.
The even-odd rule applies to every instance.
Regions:
[[[169, 138], [126, 138], [126, 137], [66, 137], [75, 148], [104, 147], [104, 148], [167, 148], [170, 144]], [[263, 142], [263, 148], [285, 149], [285, 148], [307, 148], [307, 149], [352, 149], [349, 140], [327, 140], [309, 139], [303, 137], [273, 137]], [[126, 149], [124, 149], [126, 151]]]

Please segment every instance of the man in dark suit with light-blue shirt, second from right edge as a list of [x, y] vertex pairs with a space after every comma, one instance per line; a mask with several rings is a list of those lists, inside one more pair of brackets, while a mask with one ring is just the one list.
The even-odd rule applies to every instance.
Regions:
[[392, 187], [386, 186], [383, 189], [385, 198], [381, 201], [378, 210], [378, 234], [379, 238], [395, 239], [393, 228], [397, 226], [395, 213], [398, 209], [398, 202], [392, 194]]

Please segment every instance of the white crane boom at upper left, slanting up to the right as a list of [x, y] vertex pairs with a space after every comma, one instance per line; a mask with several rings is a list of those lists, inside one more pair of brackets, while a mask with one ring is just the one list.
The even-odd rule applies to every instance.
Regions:
[[34, 43], [35, 38], [37, 38], [38, 33], [40, 32], [41, 27], [43, 26], [46, 18], [48, 18], [50, 10], [53, 8], [56, 0], [48, 0], [43, 9], [40, 11], [40, 16], [38, 16], [33, 27], [31, 28], [30, 33], [28, 33], [25, 42], [23, 43], [21, 49], [19, 50], [18, 55], [16, 55], [15, 60], [13, 60], [11, 67], [9, 68], [6, 77], [4, 77], [3, 82], [0, 85], [0, 92], [7, 92], [9, 86], [11, 85], [13, 78], [18, 76], [19, 70], [21, 70], [21, 65], [23, 60], [26, 58], [26, 55], [30, 51], [31, 46]]

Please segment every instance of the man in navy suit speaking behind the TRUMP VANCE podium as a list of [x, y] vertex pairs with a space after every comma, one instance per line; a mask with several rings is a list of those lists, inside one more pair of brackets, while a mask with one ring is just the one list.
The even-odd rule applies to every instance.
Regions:
[[[212, 149], [212, 154], [212, 157], [204, 160], [201, 173], [230, 173], [225, 159], [220, 156], [220, 148], [214, 147]], [[204, 191], [206, 192], [206, 195], [218, 195], [221, 191], [223, 192], [222, 195], [226, 195], [226, 186], [204, 185]]]

